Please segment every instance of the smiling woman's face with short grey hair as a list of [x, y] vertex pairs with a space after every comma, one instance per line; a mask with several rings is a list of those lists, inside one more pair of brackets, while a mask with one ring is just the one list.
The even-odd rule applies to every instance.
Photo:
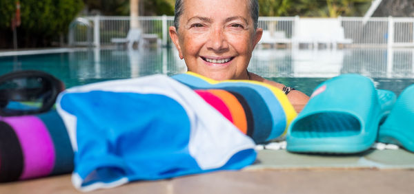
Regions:
[[255, 30], [248, 0], [184, 0], [172, 42], [188, 71], [213, 78], [247, 79], [247, 66], [262, 29]]

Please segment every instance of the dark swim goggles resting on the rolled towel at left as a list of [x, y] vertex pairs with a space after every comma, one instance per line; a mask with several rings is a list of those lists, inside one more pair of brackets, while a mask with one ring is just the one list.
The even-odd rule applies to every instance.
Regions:
[[46, 72], [24, 70], [0, 76], [0, 116], [40, 114], [55, 105], [65, 89], [61, 80]]

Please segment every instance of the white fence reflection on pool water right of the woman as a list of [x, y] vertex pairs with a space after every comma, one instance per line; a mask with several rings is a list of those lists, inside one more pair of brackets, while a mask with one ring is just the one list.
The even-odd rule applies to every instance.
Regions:
[[269, 78], [414, 78], [413, 56], [412, 49], [255, 50], [249, 70]]

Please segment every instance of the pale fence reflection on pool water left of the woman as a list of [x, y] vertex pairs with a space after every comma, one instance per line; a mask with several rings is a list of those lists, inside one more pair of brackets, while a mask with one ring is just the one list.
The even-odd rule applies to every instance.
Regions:
[[[91, 56], [92, 54], [92, 56]], [[137, 78], [150, 74], [186, 72], [184, 61], [172, 50], [90, 50], [69, 53], [70, 78], [79, 80]]]

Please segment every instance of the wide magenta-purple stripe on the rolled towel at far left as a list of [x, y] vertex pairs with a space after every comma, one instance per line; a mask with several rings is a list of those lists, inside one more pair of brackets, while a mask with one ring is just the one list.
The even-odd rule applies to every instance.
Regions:
[[55, 147], [46, 125], [36, 116], [3, 118], [16, 131], [23, 151], [20, 180], [49, 175], [55, 166]]

